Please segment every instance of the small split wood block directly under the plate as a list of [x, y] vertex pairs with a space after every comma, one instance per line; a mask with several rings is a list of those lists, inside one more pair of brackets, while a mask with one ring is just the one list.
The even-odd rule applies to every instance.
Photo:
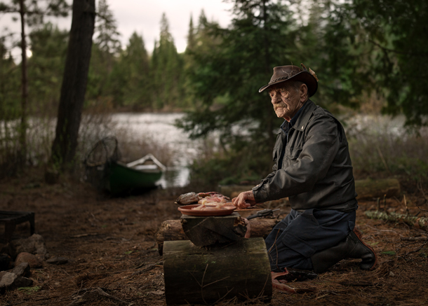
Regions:
[[182, 215], [181, 225], [196, 246], [230, 244], [242, 239], [247, 231], [246, 223], [236, 212], [229, 216]]

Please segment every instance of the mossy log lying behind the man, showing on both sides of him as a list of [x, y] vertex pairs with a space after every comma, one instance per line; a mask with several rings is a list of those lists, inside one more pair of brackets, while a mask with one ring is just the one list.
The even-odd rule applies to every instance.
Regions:
[[[251, 190], [254, 186], [225, 185], [219, 186], [219, 192], [227, 197], [234, 197], [243, 191]], [[400, 194], [400, 183], [397, 179], [360, 179], [355, 181], [357, 199], [370, 197], [398, 197]]]

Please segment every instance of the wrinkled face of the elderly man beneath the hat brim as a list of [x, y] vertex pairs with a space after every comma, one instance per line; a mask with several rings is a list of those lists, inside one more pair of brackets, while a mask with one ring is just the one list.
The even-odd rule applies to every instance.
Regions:
[[278, 118], [290, 121], [300, 107], [305, 104], [305, 97], [302, 97], [302, 86], [300, 90], [295, 90], [289, 83], [273, 86], [269, 89], [269, 96], [274, 104], [274, 111]]

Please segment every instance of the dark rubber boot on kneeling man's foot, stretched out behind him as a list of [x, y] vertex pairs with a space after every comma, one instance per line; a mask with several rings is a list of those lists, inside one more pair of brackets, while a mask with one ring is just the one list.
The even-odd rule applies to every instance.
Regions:
[[373, 270], [377, 263], [375, 251], [361, 241], [361, 232], [356, 228], [354, 231], [349, 232], [346, 239], [339, 244], [330, 249], [314, 253], [311, 256], [311, 261], [314, 272], [323, 273], [329, 267], [345, 258], [361, 258], [363, 260], [360, 264], [362, 270]]

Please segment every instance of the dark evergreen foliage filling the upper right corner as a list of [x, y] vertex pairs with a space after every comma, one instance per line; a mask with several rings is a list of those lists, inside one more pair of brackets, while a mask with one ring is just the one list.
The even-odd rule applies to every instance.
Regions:
[[[363, 58], [352, 64], [368, 76], [359, 82], [387, 98], [384, 111], [404, 113], [408, 125], [427, 125], [428, 88], [422, 80], [428, 67], [428, 2], [346, 1], [337, 4], [333, 16], [330, 36], [348, 32], [349, 44]], [[342, 53], [344, 60], [349, 56], [351, 49]]]

